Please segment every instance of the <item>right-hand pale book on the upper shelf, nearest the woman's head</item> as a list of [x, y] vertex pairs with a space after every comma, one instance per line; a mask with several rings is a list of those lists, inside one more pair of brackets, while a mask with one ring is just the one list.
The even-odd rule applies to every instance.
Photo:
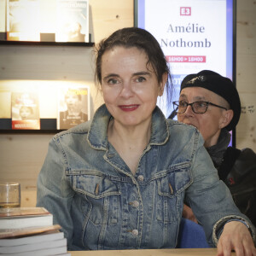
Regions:
[[56, 42], [89, 42], [89, 0], [57, 0]]

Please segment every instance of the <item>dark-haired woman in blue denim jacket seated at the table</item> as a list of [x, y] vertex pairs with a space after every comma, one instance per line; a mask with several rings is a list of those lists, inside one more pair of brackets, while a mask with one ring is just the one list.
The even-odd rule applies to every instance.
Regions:
[[38, 177], [38, 206], [54, 214], [69, 249], [176, 247], [186, 196], [219, 254], [255, 253], [255, 230], [199, 132], [156, 107], [170, 74], [155, 38], [139, 28], [114, 32], [97, 49], [96, 78], [105, 104], [53, 137]]

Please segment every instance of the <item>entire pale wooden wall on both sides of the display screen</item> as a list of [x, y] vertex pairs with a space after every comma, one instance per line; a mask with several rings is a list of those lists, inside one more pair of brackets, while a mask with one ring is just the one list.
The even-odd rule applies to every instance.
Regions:
[[[237, 0], [237, 87], [243, 112], [237, 148], [256, 151], [256, 3]], [[133, 0], [90, 0], [90, 32], [98, 43], [133, 26]], [[90, 84], [93, 113], [102, 103], [94, 89], [93, 55], [81, 47], [0, 46], [0, 79], [79, 80]], [[53, 134], [0, 134], [0, 181], [21, 183], [21, 205], [35, 206], [38, 172]]]

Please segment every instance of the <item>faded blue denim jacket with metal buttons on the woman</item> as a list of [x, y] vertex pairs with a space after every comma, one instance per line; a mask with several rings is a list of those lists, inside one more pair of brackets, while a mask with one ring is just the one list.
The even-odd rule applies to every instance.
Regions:
[[108, 142], [111, 118], [102, 105], [92, 121], [55, 135], [38, 176], [38, 206], [61, 224], [69, 249], [176, 247], [184, 198], [212, 246], [230, 218], [251, 226], [194, 127], [166, 119], [156, 107], [133, 175]]

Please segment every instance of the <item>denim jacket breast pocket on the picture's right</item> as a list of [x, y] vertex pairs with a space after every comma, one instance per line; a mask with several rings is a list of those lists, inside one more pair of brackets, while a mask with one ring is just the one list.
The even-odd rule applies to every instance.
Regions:
[[183, 163], [171, 166], [160, 172], [157, 178], [157, 210], [156, 218], [160, 222], [177, 222], [181, 217], [184, 191], [192, 183], [189, 172], [190, 164]]

